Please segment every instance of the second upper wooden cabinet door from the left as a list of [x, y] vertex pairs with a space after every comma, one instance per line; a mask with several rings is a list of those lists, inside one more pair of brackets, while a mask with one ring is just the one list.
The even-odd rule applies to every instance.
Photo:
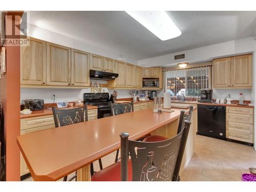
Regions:
[[47, 84], [71, 85], [71, 48], [47, 42]]

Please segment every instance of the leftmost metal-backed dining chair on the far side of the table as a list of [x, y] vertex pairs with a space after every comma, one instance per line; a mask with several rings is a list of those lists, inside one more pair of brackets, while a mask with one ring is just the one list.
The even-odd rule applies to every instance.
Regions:
[[[84, 104], [79, 108], [73, 109], [56, 109], [55, 106], [52, 107], [53, 118], [55, 127], [66, 126], [70, 124], [81, 123], [88, 121], [88, 106]], [[85, 117], [85, 118], [84, 118]], [[99, 159], [99, 167], [103, 169], [101, 159]], [[91, 176], [94, 174], [93, 163], [91, 163]], [[68, 176], [63, 178], [63, 181], [67, 181]], [[77, 174], [75, 174], [69, 181], [73, 179], [77, 180]]]

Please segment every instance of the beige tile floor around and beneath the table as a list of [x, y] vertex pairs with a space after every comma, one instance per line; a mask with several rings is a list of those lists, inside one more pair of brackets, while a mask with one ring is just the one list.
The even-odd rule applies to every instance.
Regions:
[[[115, 155], [103, 157], [103, 167], [114, 163]], [[256, 166], [253, 147], [197, 135], [195, 154], [180, 177], [181, 181], [241, 181], [241, 175], [249, 173], [251, 166]], [[94, 162], [94, 169], [99, 170], [98, 161]]]

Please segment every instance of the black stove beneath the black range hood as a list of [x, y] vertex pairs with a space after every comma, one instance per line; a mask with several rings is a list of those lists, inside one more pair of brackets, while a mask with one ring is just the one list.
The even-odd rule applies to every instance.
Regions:
[[109, 93], [84, 93], [83, 102], [98, 107], [98, 119], [111, 116]]

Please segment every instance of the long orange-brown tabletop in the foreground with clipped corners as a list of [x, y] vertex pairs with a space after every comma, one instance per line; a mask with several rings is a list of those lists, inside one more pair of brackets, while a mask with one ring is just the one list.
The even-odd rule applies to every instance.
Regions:
[[136, 140], [179, 116], [141, 110], [20, 135], [17, 144], [35, 181], [56, 181], [120, 148], [121, 132]]

